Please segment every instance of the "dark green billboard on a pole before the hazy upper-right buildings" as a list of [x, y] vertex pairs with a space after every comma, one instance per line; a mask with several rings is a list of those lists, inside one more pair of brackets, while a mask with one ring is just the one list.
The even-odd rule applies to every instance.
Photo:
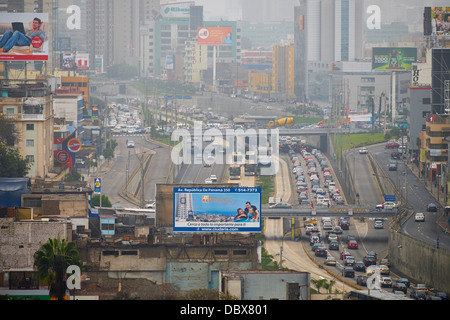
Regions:
[[406, 71], [417, 62], [417, 48], [373, 48], [372, 69]]

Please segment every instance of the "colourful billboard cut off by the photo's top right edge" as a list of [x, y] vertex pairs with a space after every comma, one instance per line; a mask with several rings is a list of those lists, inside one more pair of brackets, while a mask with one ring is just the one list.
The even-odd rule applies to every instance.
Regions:
[[450, 7], [426, 7], [424, 11], [424, 34], [450, 36]]

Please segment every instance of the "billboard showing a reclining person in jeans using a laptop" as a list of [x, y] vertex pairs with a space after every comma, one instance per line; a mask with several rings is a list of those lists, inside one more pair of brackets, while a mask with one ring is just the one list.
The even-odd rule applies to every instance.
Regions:
[[47, 61], [47, 13], [0, 13], [0, 61]]

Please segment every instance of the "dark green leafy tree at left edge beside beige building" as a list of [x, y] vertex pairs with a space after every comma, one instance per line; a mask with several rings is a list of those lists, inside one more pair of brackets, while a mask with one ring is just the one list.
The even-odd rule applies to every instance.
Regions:
[[0, 177], [22, 178], [30, 171], [30, 163], [19, 152], [0, 141]]

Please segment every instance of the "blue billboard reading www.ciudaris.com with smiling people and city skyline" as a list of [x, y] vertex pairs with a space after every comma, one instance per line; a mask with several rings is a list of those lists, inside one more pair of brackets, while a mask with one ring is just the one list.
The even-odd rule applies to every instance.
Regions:
[[261, 232], [261, 188], [176, 187], [175, 232]]

